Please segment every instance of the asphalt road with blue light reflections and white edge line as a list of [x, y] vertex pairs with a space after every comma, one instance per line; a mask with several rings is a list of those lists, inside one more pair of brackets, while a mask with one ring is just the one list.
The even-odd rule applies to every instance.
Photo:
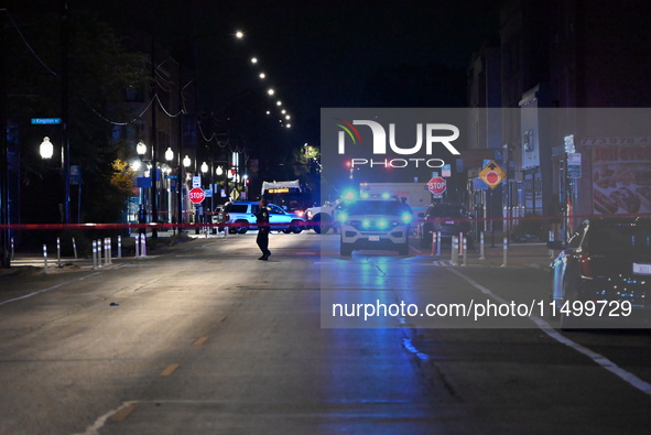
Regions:
[[[254, 238], [0, 278], [0, 433], [649, 433], [651, 334], [420, 315], [538, 307], [544, 270], [340, 258], [312, 231], [263, 262]], [[420, 312], [364, 319], [401, 303]]]

